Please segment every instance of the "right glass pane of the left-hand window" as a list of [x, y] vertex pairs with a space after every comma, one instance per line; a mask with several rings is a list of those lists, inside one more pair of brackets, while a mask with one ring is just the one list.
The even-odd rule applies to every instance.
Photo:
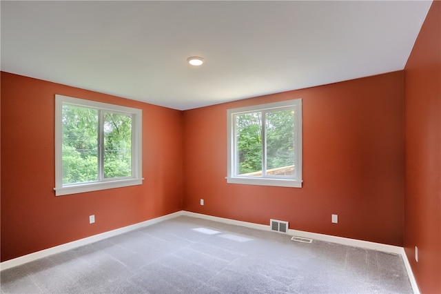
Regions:
[[132, 117], [104, 113], [104, 177], [132, 176]]

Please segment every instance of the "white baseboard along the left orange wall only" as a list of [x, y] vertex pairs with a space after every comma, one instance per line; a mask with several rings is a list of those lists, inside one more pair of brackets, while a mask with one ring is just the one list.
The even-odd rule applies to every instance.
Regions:
[[124, 226], [123, 228], [116, 228], [115, 230], [112, 231], [107, 231], [104, 233], [100, 233], [98, 235], [93, 235], [90, 237], [85, 237], [83, 239], [79, 239], [76, 241], [72, 241], [69, 243], [65, 243], [65, 244], [61, 244], [59, 246], [54, 246], [48, 249], [44, 249], [41, 251], [37, 251], [34, 253], [30, 253], [27, 255], [23, 255], [14, 259], [10, 259], [10, 260], [6, 260], [5, 262], [1, 262], [0, 263], [0, 271], [6, 270], [8, 268], [12, 268], [14, 266], [19, 266], [21, 264], [25, 264], [28, 262], [32, 262], [34, 260], [43, 258], [43, 257], [47, 257], [49, 255], [53, 255], [56, 253], [61, 253], [63, 251], [68, 251], [70, 249], [73, 248], [77, 248], [80, 246], [84, 246], [84, 245], [88, 245], [88, 244], [92, 244], [94, 242], [98, 242], [101, 241], [103, 239], [107, 239], [109, 237], [114, 237], [116, 235], [121, 235], [123, 233], [127, 233], [130, 231], [134, 231], [138, 228], [143, 228], [145, 226], [151, 226], [152, 224], [157, 224], [158, 222], [163, 222], [167, 219], [172, 219], [174, 217], [178, 217], [180, 215], [182, 215], [183, 212], [181, 211], [177, 211], [176, 213], [170, 213], [169, 215], [163, 215], [162, 217], [156, 217], [154, 219], [149, 219], [145, 222], [139, 222], [137, 224], [132, 224], [130, 226]]

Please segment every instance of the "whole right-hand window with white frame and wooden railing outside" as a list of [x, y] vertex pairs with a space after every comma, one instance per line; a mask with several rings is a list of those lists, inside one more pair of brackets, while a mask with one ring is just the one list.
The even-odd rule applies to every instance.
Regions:
[[302, 99], [227, 110], [227, 182], [302, 186]]

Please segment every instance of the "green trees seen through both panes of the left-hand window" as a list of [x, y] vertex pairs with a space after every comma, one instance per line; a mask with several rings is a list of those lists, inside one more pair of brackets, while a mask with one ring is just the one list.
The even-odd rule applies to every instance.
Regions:
[[[100, 178], [99, 121], [103, 134], [103, 177], [132, 175], [132, 117], [93, 108], [63, 105], [63, 184]], [[100, 119], [100, 116], [102, 117]]]

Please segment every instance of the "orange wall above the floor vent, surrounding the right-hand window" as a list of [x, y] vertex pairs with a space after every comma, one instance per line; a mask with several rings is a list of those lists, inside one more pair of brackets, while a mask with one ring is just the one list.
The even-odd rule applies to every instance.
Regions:
[[[403, 79], [391, 72], [185, 111], [184, 209], [402, 246]], [[296, 98], [303, 187], [227, 184], [227, 109]]]

